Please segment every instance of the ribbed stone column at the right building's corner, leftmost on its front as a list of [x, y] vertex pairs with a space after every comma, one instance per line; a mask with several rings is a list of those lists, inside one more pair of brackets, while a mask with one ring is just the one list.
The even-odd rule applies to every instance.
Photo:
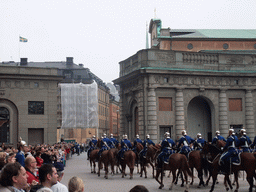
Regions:
[[[147, 133], [154, 143], [157, 142], [157, 116], [156, 116], [156, 92], [149, 88], [148, 91], [148, 127]], [[146, 134], [147, 134], [146, 133]]]

